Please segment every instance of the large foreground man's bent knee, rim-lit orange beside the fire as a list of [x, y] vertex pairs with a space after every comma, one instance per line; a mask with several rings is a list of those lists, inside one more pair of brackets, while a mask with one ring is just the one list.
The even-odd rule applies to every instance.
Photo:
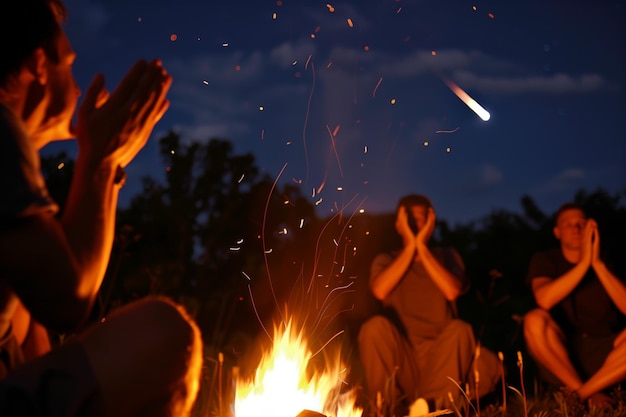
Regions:
[[185, 416], [202, 366], [200, 332], [181, 307], [148, 298], [80, 336], [110, 416]]

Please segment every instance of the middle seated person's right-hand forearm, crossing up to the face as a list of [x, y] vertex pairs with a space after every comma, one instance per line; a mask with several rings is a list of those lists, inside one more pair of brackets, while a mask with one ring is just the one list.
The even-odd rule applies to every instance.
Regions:
[[[427, 245], [427, 241], [434, 228], [435, 211], [432, 208], [429, 208], [426, 224], [422, 230], [418, 232], [415, 239], [417, 252], [422, 260], [424, 269], [426, 269], [426, 272], [428, 272], [428, 275], [433, 280], [435, 285], [441, 290], [444, 297], [446, 297], [448, 301], [454, 301], [459, 297], [459, 295], [463, 294], [466, 281], [462, 276], [454, 274], [448, 268], [444, 267], [431, 252]], [[463, 262], [456, 251], [454, 251], [453, 257], [456, 258], [455, 260], [462, 270]]]

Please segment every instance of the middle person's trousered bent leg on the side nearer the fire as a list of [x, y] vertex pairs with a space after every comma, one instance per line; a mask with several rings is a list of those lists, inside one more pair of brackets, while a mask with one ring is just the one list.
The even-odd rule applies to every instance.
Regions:
[[419, 381], [419, 370], [408, 341], [385, 317], [374, 316], [359, 331], [359, 351], [365, 368], [367, 392], [370, 400], [385, 387], [392, 375], [396, 375], [396, 390], [391, 393], [397, 400], [404, 393], [413, 400]]

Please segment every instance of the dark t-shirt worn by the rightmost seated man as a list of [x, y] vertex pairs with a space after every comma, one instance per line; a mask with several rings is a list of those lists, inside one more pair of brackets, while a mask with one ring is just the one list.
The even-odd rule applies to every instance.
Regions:
[[[530, 261], [527, 282], [530, 284], [537, 277], [557, 278], [574, 266], [565, 259], [560, 248], [538, 252]], [[592, 268], [550, 313], [566, 333], [606, 336], [626, 326], [626, 317], [617, 309]]]

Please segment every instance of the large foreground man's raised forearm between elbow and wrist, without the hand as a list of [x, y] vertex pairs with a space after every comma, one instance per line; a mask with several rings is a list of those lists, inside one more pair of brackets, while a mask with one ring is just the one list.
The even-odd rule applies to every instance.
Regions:
[[116, 166], [102, 162], [92, 166], [78, 158], [70, 194], [61, 218], [74, 260], [79, 268], [75, 294], [91, 305], [109, 262], [114, 238], [119, 186]]

